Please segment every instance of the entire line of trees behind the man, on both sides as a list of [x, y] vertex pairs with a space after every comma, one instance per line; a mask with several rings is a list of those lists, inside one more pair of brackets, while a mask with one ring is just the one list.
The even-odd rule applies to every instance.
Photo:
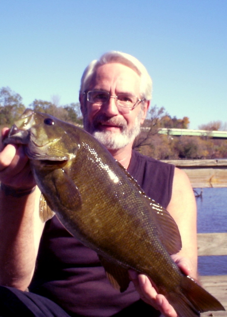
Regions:
[[[79, 103], [57, 106], [57, 101], [35, 99], [29, 106], [34, 111], [45, 112], [60, 120], [82, 125]], [[22, 97], [9, 87], [0, 89], [0, 126], [11, 126], [24, 112]], [[171, 117], [164, 107], [153, 106], [149, 110], [140, 135], [134, 142], [134, 149], [155, 159], [215, 159], [227, 158], [227, 140], [214, 140], [209, 137], [170, 136], [159, 134], [160, 128], [189, 127], [189, 118]], [[222, 121], [213, 121], [199, 126], [201, 130], [226, 130]]]

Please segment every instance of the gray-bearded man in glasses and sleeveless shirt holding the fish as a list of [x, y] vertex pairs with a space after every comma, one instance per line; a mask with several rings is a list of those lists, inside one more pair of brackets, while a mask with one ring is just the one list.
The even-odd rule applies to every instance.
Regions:
[[[151, 86], [147, 70], [136, 58], [119, 52], [104, 54], [91, 62], [81, 79], [84, 127], [148, 196], [170, 212], [183, 246], [173, 259], [186, 274], [196, 277], [196, 206], [187, 176], [170, 164], [132, 151], [149, 107]], [[130, 271], [134, 286], [131, 283], [120, 294], [108, 282], [97, 254], [72, 237], [57, 217], [44, 227], [38, 216], [40, 192], [23, 147], [7, 145], [2, 150], [0, 180], [0, 284], [11, 286], [1, 287], [0, 298], [13, 298], [11, 306], [26, 314], [32, 311], [31, 316], [120, 317], [132, 312], [160, 316], [153, 307], [165, 316], [177, 316], [146, 276]], [[18, 291], [28, 286], [30, 292]]]

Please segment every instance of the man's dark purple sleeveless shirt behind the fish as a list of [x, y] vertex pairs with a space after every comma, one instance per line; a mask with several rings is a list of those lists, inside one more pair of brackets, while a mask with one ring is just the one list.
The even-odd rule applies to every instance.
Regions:
[[[164, 207], [168, 206], [173, 165], [133, 151], [128, 171], [147, 196]], [[132, 283], [124, 293], [119, 293], [112, 287], [97, 254], [68, 233], [56, 216], [45, 225], [37, 268], [29, 289], [53, 300], [73, 317], [114, 316], [139, 300]], [[140, 302], [147, 305], [141, 300], [138, 303]], [[155, 312], [151, 307], [148, 311], [148, 314], [144, 314], [142, 310], [142, 315], [159, 316], [155, 313], [151, 315], [151, 312]]]

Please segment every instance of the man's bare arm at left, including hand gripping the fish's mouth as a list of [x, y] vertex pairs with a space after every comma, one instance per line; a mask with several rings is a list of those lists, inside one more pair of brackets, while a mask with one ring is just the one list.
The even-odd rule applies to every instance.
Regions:
[[0, 190], [0, 284], [25, 290], [44, 224], [38, 212], [40, 191], [21, 146], [7, 145], [0, 153], [0, 181], [5, 185]]

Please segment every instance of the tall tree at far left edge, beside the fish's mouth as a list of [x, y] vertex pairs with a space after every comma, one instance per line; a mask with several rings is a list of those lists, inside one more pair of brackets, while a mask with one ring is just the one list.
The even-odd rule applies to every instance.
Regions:
[[24, 112], [22, 97], [9, 87], [0, 89], [0, 125], [9, 126]]

